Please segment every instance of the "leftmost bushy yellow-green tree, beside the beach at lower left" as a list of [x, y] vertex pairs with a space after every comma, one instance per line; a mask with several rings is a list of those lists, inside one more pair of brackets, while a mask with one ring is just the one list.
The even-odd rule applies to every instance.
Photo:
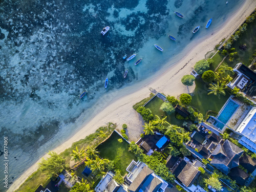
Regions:
[[43, 158], [39, 163], [39, 169], [51, 177], [65, 169], [65, 159], [52, 151], [49, 151], [48, 155], [50, 155], [48, 159]]

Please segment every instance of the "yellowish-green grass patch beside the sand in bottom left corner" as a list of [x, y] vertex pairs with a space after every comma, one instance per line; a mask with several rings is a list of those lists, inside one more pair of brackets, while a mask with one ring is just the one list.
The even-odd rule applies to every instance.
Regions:
[[48, 179], [47, 175], [37, 170], [15, 192], [34, 192], [39, 185], [43, 185]]

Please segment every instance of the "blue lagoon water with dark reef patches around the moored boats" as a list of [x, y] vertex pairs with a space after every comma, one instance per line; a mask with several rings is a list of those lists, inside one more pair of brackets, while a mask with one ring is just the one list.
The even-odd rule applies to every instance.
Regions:
[[[72, 136], [113, 97], [120, 96], [121, 88], [136, 86], [167, 69], [200, 40], [220, 29], [243, 1], [225, 3], [3, 0], [0, 135], [9, 139], [9, 183]], [[211, 17], [212, 23], [205, 29]], [[200, 30], [193, 34], [199, 25]], [[105, 26], [110, 26], [110, 31], [101, 36]], [[168, 34], [177, 40], [170, 40]], [[158, 51], [154, 44], [164, 51]], [[132, 54], [137, 55], [131, 61], [122, 59]], [[142, 62], [134, 66], [139, 58]], [[129, 70], [126, 79], [125, 69]], [[104, 89], [106, 77], [108, 89]], [[89, 93], [79, 99], [85, 90]], [[3, 144], [0, 141], [1, 162]], [[0, 185], [0, 191], [4, 190]]]

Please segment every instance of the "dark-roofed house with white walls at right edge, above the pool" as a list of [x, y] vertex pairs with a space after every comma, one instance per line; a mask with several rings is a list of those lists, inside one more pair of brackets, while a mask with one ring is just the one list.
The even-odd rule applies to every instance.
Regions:
[[241, 92], [253, 98], [256, 95], [256, 73], [241, 62], [233, 68], [233, 72], [237, 76], [227, 86], [231, 89], [237, 87]]

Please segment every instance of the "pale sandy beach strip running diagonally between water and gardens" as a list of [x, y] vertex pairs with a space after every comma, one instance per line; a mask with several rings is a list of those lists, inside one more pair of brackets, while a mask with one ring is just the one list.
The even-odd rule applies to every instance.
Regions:
[[[86, 124], [80, 131], [78, 131], [72, 138], [55, 148], [55, 152], [60, 153], [66, 148], [70, 147], [73, 142], [83, 139], [87, 135], [94, 133], [95, 130], [104, 125], [106, 122], [115, 122], [118, 125], [118, 129], [121, 129], [121, 125], [126, 123], [128, 126], [127, 135], [130, 140], [137, 140], [142, 133], [143, 124], [142, 118], [132, 106], [147, 97], [150, 94], [148, 88], [156, 89], [159, 92], [165, 94], [178, 96], [181, 93], [189, 93], [193, 91], [194, 86], [186, 87], [181, 83], [183, 75], [189, 74], [195, 63], [204, 58], [205, 54], [214, 49], [223, 38], [229, 36], [231, 33], [240, 26], [244, 19], [255, 9], [256, 1], [247, 0], [241, 6], [240, 10], [230, 16], [228, 21], [222, 28], [212, 34], [210, 38], [202, 39], [202, 42], [194, 47], [190, 52], [175, 65], [170, 67], [164, 73], [157, 75], [153, 79], [147, 79], [136, 85], [135, 88], [124, 88], [126, 94], [125, 97], [110, 103], [103, 111], [101, 111], [96, 117], [94, 117], [88, 124]], [[134, 92], [136, 91], [136, 92]], [[115, 95], [115, 94], [113, 94]], [[46, 158], [47, 155], [44, 156]], [[38, 167], [38, 160], [32, 165], [22, 176], [20, 176], [8, 189], [8, 191], [14, 191], [17, 189]]]

